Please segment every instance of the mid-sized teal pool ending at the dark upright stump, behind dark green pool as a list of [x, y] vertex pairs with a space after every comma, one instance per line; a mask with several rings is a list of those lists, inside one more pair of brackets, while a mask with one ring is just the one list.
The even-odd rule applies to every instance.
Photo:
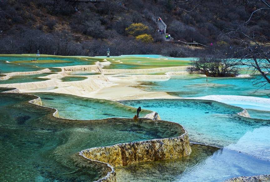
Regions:
[[[137, 109], [104, 99], [92, 99], [68, 94], [32, 93], [42, 99], [42, 105], [58, 109], [67, 119], [133, 118]], [[142, 110], [143, 117], [151, 111]]]

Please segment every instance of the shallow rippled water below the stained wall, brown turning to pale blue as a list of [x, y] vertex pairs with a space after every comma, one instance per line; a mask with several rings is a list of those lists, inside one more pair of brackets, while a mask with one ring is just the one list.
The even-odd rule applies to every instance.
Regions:
[[188, 157], [116, 168], [117, 181], [224, 181], [268, 174], [270, 162], [216, 147], [192, 145]]

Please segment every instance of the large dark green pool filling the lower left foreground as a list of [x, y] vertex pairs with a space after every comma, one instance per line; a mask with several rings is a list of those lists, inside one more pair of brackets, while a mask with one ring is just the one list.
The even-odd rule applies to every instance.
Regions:
[[105, 168], [78, 167], [78, 151], [175, 136], [173, 128], [152, 121], [58, 119], [54, 109], [26, 102], [35, 98], [0, 93], [0, 181], [94, 181]]

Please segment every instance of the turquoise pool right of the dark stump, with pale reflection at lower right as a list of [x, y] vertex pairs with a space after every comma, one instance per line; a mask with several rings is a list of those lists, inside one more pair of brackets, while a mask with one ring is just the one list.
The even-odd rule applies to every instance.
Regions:
[[158, 112], [187, 129], [191, 141], [234, 149], [270, 160], [270, 120], [238, 116], [241, 108], [207, 100], [152, 99], [122, 104]]

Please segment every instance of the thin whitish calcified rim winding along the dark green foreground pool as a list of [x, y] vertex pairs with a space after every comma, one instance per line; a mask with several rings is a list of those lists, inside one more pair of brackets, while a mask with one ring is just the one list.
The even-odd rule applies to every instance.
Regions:
[[[14, 93], [14, 94], [17, 94], [17, 93], [20, 93], [20, 91], [17, 89], [17, 88], [13, 88], [13, 90], [8, 90], [8, 91], [4, 91], [4, 92], [0, 92], [0, 93]], [[25, 94], [25, 95], [33, 95], [33, 94]], [[45, 106], [42, 106], [42, 100], [39, 96], [37, 95], [33, 95], [36, 97], [36, 99], [32, 99], [30, 101], [28, 101], [28, 103], [31, 103], [31, 104], [35, 104], [35, 105], [38, 105], [38, 106], [41, 106], [41, 107], [44, 107], [44, 108], [50, 108], [50, 107], [45, 107]], [[53, 112], [53, 117], [55, 118], [58, 118], [58, 119], [62, 119], [62, 118], [59, 118], [58, 117], [58, 110], [55, 109], [55, 108], [51, 108], [53, 110], [55, 110]], [[154, 112], [153, 112], [154, 113]], [[68, 119], [68, 120], [77, 120], [77, 119]], [[96, 120], [103, 120], [103, 119], [96, 119]], [[81, 120], [78, 120], [78, 121], [81, 121]], [[143, 119], [141, 120], [141, 122], [143, 121]], [[167, 123], [168, 121], [162, 121], [162, 120], [159, 120], [160, 123]], [[187, 134], [187, 131], [184, 129], [183, 126], [181, 126], [180, 124], [178, 123], [175, 123], [175, 122], [170, 122], [171, 124], [174, 124], [176, 126], [178, 126], [179, 128], [181, 128], [183, 134], [181, 136], [178, 136], [178, 137], [172, 137], [172, 138], [163, 138], [163, 139], [151, 139], [151, 140], [144, 140], [144, 141], [139, 141], [139, 142], [129, 142], [129, 143], [123, 143], [123, 144], [126, 144], [126, 145], [132, 145], [132, 144], [135, 144], [135, 143], [141, 143], [141, 144], [144, 144], [144, 143], [151, 143], [151, 142], [154, 142], [154, 141], [164, 141], [164, 140], [173, 140], [173, 139], [178, 139], [180, 140], [181, 142], [187, 138], [187, 143], [189, 148], [185, 148], [184, 149], [184, 152], [188, 154], [191, 153], [191, 148], [190, 148], [190, 145], [189, 145], [189, 138], [188, 138], [188, 134]], [[184, 143], [184, 142], [183, 142]], [[121, 145], [121, 144], [116, 144], [116, 145]], [[116, 145], [112, 145], [112, 146], [116, 146]], [[107, 147], [111, 147], [111, 146], [107, 146]], [[100, 147], [95, 147], [95, 148], [100, 148]], [[91, 148], [91, 149], [95, 149], [95, 148]], [[102, 148], [102, 147], [101, 147]], [[86, 149], [87, 150], [87, 149]], [[88, 159], [87, 157], [85, 157], [82, 152], [85, 151], [85, 150], [82, 150], [79, 155], [83, 156], [85, 159]], [[102, 163], [102, 164], [106, 164], [107, 167], [109, 168], [109, 172], [107, 173], [106, 176], [104, 176], [103, 178], [101, 179], [98, 179], [97, 181], [95, 182], [116, 182], [116, 174], [115, 174], [115, 170], [113, 168], [113, 166], [111, 166], [110, 164], [108, 163], [105, 163], [105, 162], [101, 162], [101, 161], [98, 161], [98, 160], [93, 160], [93, 159], [88, 159], [90, 161], [93, 161], [93, 162], [96, 162], [96, 163]], [[105, 170], [105, 169], [104, 169]]]

